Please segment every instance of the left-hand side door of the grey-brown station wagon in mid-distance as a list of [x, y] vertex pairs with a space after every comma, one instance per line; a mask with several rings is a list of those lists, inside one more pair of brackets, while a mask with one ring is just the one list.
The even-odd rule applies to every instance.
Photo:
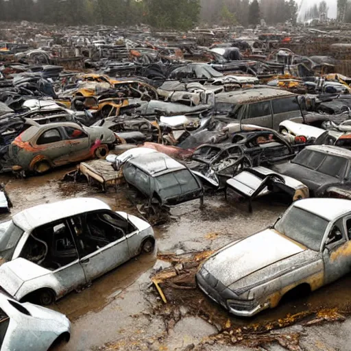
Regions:
[[260, 127], [272, 128], [273, 122], [270, 101], [260, 101], [249, 104], [242, 110], [242, 124], [254, 124]]

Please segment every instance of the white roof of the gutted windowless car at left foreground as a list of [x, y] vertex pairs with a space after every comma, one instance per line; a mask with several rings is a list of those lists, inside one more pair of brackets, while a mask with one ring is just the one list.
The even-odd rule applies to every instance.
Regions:
[[99, 199], [79, 197], [27, 208], [14, 215], [12, 221], [29, 232], [47, 223], [94, 210], [110, 210], [110, 206]]

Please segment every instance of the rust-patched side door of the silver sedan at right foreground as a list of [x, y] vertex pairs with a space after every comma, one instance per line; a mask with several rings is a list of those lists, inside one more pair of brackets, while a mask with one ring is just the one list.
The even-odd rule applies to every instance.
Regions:
[[[348, 230], [346, 230], [346, 225]], [[341, 278], [351, 269], [349, 232], [351, 234], [351, 216], [333, 223], [328, 232], [323, 249], [325, 284]]]

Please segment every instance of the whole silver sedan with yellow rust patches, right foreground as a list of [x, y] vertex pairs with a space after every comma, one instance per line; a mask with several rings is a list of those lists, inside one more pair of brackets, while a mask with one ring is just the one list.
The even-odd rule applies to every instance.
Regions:
[[347, 274], [350, 233], [350, 201], [302, 199], [274, 226], [210, 256], [197, 286], [230, 313], [251, 317], [287, 293], [315, 291]]

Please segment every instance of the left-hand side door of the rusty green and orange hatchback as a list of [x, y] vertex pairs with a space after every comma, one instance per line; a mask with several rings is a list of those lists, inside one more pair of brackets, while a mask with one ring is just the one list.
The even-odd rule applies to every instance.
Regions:
[[45, 156], [54, 165], [69, 162], [70, 145], [64, 140], [59, 127], [43, 131], [34, 141], [36, 155]]

